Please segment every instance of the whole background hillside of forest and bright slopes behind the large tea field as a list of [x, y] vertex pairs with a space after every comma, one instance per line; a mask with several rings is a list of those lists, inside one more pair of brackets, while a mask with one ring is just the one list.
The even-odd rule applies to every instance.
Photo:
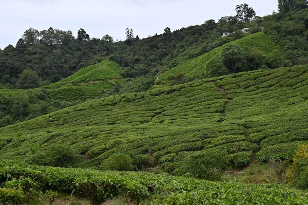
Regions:
[[[253, 10], [243, 4], [236, 16], [222, 17], [218, 23], [208, 20], [174, 32], [166, 28], [146, 39], [134, 38], [127, 29], [123, 42], [113, 42], [109, 35], [89, 39], [83, 29], [76, 39], [70, 31], [29, 29], [15, 48], [0, 51], [0, 127], [93, 98], [146, 91], [156, 77], [157, 84], [175, 85], [307, 64], [308, 9], [303, 8], [252, 18]], [[249, 33], [239, 31], [242, 28], [250, 28]]]

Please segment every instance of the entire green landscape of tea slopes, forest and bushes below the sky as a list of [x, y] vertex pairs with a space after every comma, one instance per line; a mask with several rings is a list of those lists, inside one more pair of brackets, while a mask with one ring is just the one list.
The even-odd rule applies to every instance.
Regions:
[[[52, 204], [60, 190], [95, 205], [119, 195], [141, 204], [306, 204], [279, 185], [192, 179], [246, 168], [243, 182], [308, 188], [308, 9], [286, 2], [254, 21], [243, 4], [218, 23], [143, 40], [127, 28], [117, 43], [83, 29], [77, 39], [27, 30], [0, 51], [0, 156], [23, 164], [0, 163], [0, 202]], [[235, 32], [222, 38], [226, 31]], [[98, 171], [153, 167], [188, 178]]]

